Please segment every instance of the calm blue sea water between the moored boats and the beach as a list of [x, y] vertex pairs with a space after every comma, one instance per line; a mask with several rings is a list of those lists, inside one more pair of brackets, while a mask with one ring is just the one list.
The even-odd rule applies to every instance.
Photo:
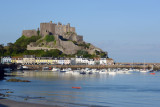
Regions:
[[[9, 78], [12, 77], [7, 77]], [[0, 81], [0, 89], [13, 91], [9, 99], [17, 101], [67, 107], [158, 107], [160, 105], [158, 72], [156, 75], [132, 73], [114, 76], [32, 72], [28, 76], [16, 78], [31, 82], [17, 83], [4, 80]]]

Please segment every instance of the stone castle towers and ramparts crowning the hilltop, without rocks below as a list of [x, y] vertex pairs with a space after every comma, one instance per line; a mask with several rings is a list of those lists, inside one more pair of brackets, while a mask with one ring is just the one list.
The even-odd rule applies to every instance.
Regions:
[[72, 37], [66, 37], [67, 33], [75, 33], [75, 27], [71, 27], [70, 23], [68, 23], [67, 25], [62, 25], [62, 23], [58, 22], [58, 24], [56, 23], [52, 23], [52, 21], [50, 21], [49, 23], [40, 23], [40, 30], [39, 28], [37, 30], [33, 29], [33, 30], [23, 30], [22, 35], [27, 36], [27, 37], [31, 37], [31, 36], [37, 36], [38, 33], [40, 32], [41, 36], [46, 36], [46, 35], [59, 35], [62, 36], [63, 38], [69, 39], [69, 40], [73, 40], [73, 41], [83, 41], [83, 36], [80, 35], [76, 35]]

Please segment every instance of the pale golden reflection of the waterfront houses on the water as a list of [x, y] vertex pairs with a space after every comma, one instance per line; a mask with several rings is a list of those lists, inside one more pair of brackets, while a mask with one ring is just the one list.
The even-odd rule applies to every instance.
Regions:
[[[13, 72], [10, 73], [10, 75], [15, 75], [17, 77], [22, 76], [22, 77], [34, 77], [34, 78], [47, 78], [47, 79], [63, 79], [63, 80], [80, 80], [80, 79], [105, 79], [109, 77], [107, 74], [87, 74], [87, 75], [82, 75], [82, 74], [77, 74], [77, 73], [60, 73], [60, 72], [51, 72], [51, 71], [23, 71], [23, 72]], [[115, 75], [110, 75], [110, 77], [114, 77]]]

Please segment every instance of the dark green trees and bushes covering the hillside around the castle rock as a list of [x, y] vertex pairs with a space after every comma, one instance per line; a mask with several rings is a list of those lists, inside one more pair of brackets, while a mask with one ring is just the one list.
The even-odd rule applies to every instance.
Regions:
[[[58, 49], [52, 49], [49, 51], [44, 50], [27, 50], [27, 45], [31, 42], [40, 40], [41, 36], [26, 37], [22, 35], [15, 43], [8, 43], [7, 46], [0, 45], [0, 56], [23, 56], [23, 55], [36, 55], [37, 57], [74, 57], [75, 55], [83, 56], [86, 58], [97, 57], [97, 55], [88, 54], [87, 51], [79, 50], [77, 54], [66, 55]], [[44, 38], [46, 42], [55, 41], [54, 36], [46, 36]], [[84, 44], [82, 44], [84, 45]], [[90, 44], [88, 44], [90, 45]], [[87, 45], [85, 45], [87, 47]], [[99, 54], [100, 55], [100, 54]]]

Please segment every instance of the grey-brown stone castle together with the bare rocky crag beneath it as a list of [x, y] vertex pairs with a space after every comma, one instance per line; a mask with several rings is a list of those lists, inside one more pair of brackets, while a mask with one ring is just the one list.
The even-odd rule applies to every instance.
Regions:
[[[75, 27], [52, 23], [40, 23], [40, 29], [23, 30], [23, 36], [41, 36], [36, 42], [27, 45], [27, 50], [52, 50], [58, 49], [65, 54], [76, 54], [79, 50], [86, 51], [89, 54], [104, 53], [103, 50], [83, 41], [83, 36], [77, 35]], [[46, 38], [50, 36], [54, 40], [47, 42]], [[107, 53], [106, 53], [107, 54]]]

